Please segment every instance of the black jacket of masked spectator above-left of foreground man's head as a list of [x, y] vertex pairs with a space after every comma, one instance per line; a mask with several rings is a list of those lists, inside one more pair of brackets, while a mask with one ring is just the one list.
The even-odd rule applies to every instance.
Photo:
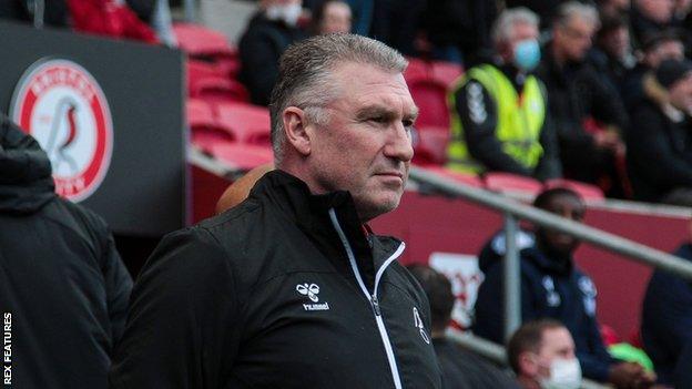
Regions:
[[278, 60], [288, 45], [305, 38], [296, 27], [255, 14], [238, 44], [240, 79], [247, 88], [254, 104], [268, 105], [272, 89], [278, 78]]

